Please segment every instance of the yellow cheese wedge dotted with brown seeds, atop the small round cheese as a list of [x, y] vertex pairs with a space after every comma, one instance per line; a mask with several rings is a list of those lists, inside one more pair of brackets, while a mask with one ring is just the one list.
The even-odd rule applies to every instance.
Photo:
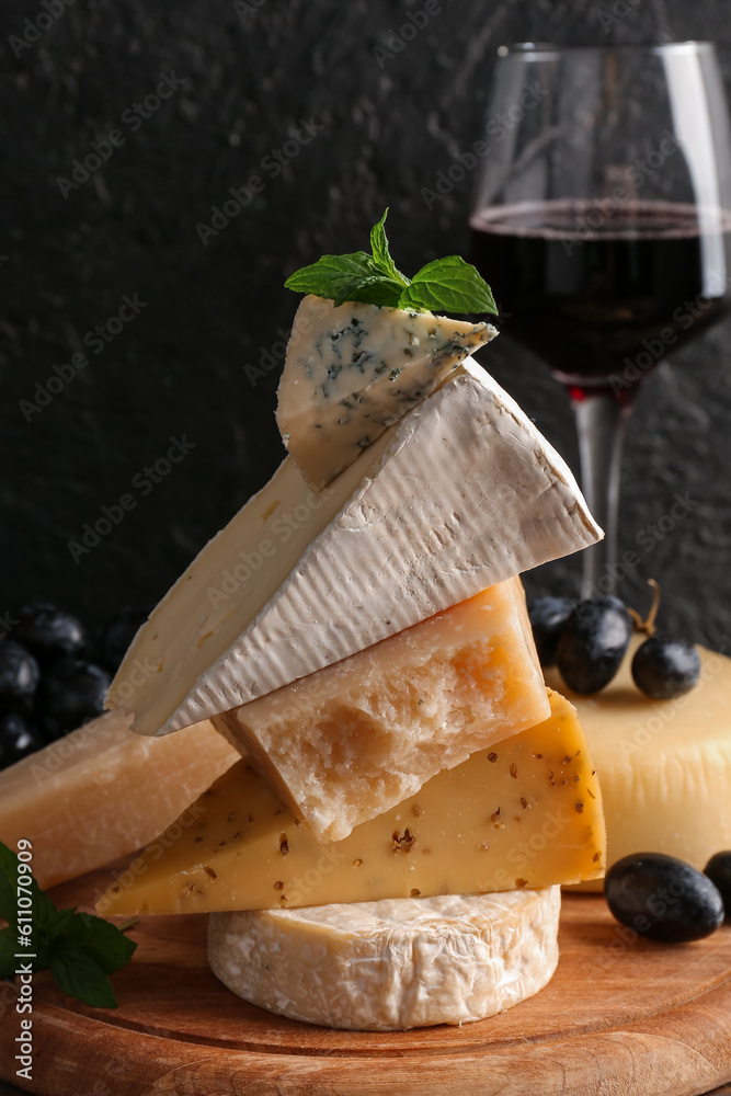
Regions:
[[[432, 777], [415, 796], [320, 844], [239, 762], [111, 887], [104, 914], [292, 909], [487, 893], [596, 878], [604, 819], [575, 711]], [[162, 853], [160, 848], [162, 847]]]

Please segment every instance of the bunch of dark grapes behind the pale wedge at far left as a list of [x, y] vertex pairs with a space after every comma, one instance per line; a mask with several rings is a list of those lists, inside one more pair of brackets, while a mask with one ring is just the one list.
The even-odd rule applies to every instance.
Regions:
[[112, 674], [148, 610], [126, 608], [94, 639], [72, 614], [25, 605], [0, 641], [0, 768], [101, 715]]

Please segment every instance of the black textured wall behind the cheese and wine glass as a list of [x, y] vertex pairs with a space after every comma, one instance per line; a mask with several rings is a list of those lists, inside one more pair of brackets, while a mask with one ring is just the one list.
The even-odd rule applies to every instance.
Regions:
[[[608, 0], [443, 5], [381, 68], [374, 47], [420, 0], [252, 0], [242, 16], [229, 2], [76, 0], [20, 58], [8, 37], [44, 9], [4, 0], [0, 614], [42, 595], [99, 623], [153, 601], [264, 483], [282, 456], [275, 344], [296, 306], [285, 274], [362, 247], [387, 203], [403, 269], [465, 250], [469, 180], [432, 212], [420, 191], [479, 135], [502, 42], [708, 37], [731, 76], [726, 0], [620, 0], [628, 14], [608, 30]], [[136, 133], [121, 124], [173, 71], [184, 88]], [[262, 174], [299, 118], [324, 129], [204, 246], [196, 224]], [[115, 127], [124, 146], [65, 199], [57, 176]], [[19, 403], [35, 383], [135, 293], [139, 317], [26, 422]], [[620, 593], [643, 605], [659, 576], [666, 620], [717, 646], [731, 636], [730, 332], [727, 320], [651, 377], [624, 475], [623, 549], [676, 491], [698, 505]], [[278, 361], [252, 384], [244, 367], [269, 347]], [[575, 468], [569, 406], [545, 367], [506, 338], [483, 361]], [[183, 435], [195, 448], [142, 495], [136, 475]], [[68, 541], [127, 492], [135, 510], [75, 562]], [[578, 569], [529, 582], [572, 591]]]

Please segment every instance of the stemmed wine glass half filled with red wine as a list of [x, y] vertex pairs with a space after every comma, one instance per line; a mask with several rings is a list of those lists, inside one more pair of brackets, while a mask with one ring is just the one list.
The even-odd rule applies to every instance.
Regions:
[[621, 447], [642, 378], [726, 311], [731, 150], [713, 46], [501, 47], [470, 215], [505, 334], [568, 389], [616, 576]]

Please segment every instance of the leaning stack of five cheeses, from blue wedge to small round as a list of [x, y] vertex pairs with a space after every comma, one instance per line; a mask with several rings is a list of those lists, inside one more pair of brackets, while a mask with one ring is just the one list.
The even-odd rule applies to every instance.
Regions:
[[601, 533], [466, 361], [494, 333], [306, 297], [279, 388], [289, 455], [111, 689], [139, 733], [210, 719], [242, 758], [100, 911], [210, 913], [215, 973], [287, 1016], [387, 1029], [506, 1008], [553, 972], [559, 884], [604, 869], [586, 742], [547, 695], [517, 578]]

